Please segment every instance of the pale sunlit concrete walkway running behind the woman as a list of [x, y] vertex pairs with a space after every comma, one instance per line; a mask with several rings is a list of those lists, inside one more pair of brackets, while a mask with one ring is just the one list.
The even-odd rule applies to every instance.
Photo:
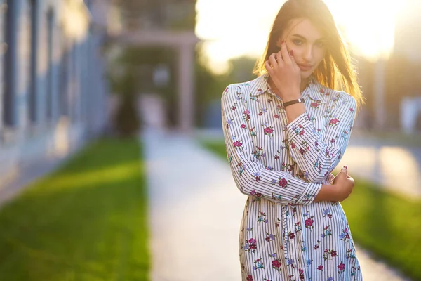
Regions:
[[[151, 222], [152, 281], [241, 280], [239, 223], [246, 196], [227, 162], [192, 138], [144, 131]], [[357, 247], [365, 281], [400, 281]]]

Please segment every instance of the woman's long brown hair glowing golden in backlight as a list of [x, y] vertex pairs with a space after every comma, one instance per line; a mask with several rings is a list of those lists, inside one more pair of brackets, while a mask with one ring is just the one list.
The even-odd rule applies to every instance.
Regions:
[[280, 50], [276, 46], [276, 42], [291, 20], [295, 18], [309, 19], [327, 37], [326, 55], [314, 70], [314, 77], [323, 86], [342, 90], [354, 96], [357, 105], [360, 106], [364, 100], [356, 79], [356, 70], [352, 64], [351, 55], [340, 36], [332, 14], [322, 0], [288, 0], [283, 4], [272, 25], [265, 52], [261, 60], [256, 63], [253, 73], [261, 75], [267, 72], [265, 61], [269, 60], [269, 55]]

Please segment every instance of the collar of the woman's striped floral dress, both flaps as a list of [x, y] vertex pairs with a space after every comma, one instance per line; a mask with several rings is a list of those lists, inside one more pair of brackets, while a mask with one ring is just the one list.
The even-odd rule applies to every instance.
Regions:
[[[250, 96], [260, 96], [263, 93], [276, 96], [272, 89], [270, 89], [269, 83], [267, 82], [268, 78], [269, 73], [265, 73], [250, 81]], [[302, 91], [301, 97], [309, 97], [314, 101], [321, 100], [322, 103], [326, 103], [326, 97], [330, 95], [331, 91], [332, 90], [319, 84], [319, 82], [311, 76], [309, 79], [309, 85], [304, 91]]]

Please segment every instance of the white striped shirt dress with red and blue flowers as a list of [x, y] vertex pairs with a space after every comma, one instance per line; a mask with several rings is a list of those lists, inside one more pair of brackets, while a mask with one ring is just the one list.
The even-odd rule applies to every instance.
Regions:
[[242, 280], [363, 280], [340, 202], [314, 202], [345, 152], [356, 101], [311, 77], [306, 112], [288, 124], [267, 78], [231, 84], [221, 98], [229, 166], [248, 195]]

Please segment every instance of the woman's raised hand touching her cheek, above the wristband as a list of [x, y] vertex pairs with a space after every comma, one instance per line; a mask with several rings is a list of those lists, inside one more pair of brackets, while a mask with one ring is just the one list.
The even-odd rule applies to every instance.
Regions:
[[265, 68], [281, 92], [284, 102], [300, 98], [301, 70], [295, 63], [293, 51], [288, 52], [284, 41], [281, 44], [281, 51], [272, 53], [269, 60], [265, 61]]

